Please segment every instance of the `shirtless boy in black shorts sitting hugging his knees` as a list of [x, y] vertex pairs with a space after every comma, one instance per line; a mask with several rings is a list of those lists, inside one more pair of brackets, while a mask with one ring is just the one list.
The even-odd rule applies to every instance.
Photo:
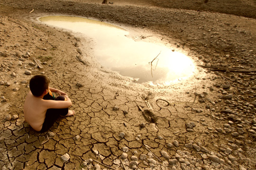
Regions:
[[[71, 100], [61, 90], [49, 87], [50, 80], [44, 75], [33, 76], [29, 81], [30, 91], [24, 103], [25, 121], [36, 131], [45, 132], [53, 126], [59, 116], [73, 116], [68, 110]], [[60, 96], [55, 99], [52, 92]]]

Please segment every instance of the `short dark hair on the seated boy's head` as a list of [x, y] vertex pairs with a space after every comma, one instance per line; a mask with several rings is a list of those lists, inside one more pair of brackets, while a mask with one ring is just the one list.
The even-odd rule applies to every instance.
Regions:
[[48, 89], [50, 80], [44, 75], [33, 76], [29, 81], [29, 88], [34, 96], [41, 96]]

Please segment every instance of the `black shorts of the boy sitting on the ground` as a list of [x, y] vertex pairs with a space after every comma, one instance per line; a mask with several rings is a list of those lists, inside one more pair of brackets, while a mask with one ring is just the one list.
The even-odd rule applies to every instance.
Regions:
[[[51, 96], [49, 93], [46, 94], [43, 98], [44, 100], [60, 100], [64, 101], [65, 97], [64, 96], [58, 96], [56, 99]], [[68, 108], [64, 109], [48, 109], [46, 111], [46, 119], [43, 123], [43, 127], [40, 130], [41, 133], [46, 132], [47, 130], [50, 129], [50, 127], [53, 126], [54, 122], [60, 117], [60, 116], [65, 116], [68, 113]]]

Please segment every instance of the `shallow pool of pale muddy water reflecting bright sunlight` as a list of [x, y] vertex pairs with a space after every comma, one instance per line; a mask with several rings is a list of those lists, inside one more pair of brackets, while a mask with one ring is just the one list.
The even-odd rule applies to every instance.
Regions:
[[92, 38], [99, 63], [122, 76], [137, 78], [137, 83], [168, 85], [192, 76], [195, 69], [186, 55], [154, 43], [134, 41], [118, 26], [82, 17], [50, 16], [39, 21]]

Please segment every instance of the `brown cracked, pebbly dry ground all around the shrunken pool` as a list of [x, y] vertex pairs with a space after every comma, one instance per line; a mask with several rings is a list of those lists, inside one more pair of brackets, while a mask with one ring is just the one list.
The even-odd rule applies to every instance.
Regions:
[[[0, 3], [2, 170], [256, 168], [256, 20], [128, 2]], [[196, 64], [221, 71], [198, 68], [191, 79], [168, 87], [135, 84], [100, 66], [92, 40], [33, 20], [46, 14], [157, 33]], [[76, 111], [43, 134], [23, 119], [28, 81], [37, 74], [68, 93]]]

